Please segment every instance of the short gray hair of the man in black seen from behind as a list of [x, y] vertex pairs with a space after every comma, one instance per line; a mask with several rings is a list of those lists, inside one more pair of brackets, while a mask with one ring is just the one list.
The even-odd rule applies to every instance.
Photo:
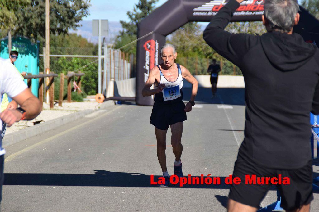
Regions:
[[264, 16], [269, 22], [267, 31], [291, 31], [299, 10], [296, 0], [265, 0]]

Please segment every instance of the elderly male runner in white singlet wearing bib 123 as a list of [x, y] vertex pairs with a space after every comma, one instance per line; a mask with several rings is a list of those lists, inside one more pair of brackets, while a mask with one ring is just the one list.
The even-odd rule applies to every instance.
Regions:
[[[164, 44], [160, 54], [164, 62], [152, 68], [142, 94], [143, 96], [155, 94], [151, 124], [155, 126], [157, 157], [165, 178], [165, 183], [159, 184], [159, 187], [168, 187], [169, 174], [166, 167], [165, 154], [167, 129], [171, 126], [171, 144], [175, 154], [174, 174], [182, 177], [181, 155], [183, 146], [181, 139], [183, 121], [186, 120], [186, 112], [190, 112], [192, 106], [195, 105], [198, 82], [185, 67], [174, 63], [177, 57], [174, 45]], [[192, 95], [186, 106], [183, 102], [183, 78], [193, 85]], [[150, 89], [153, 84], [154, 89]]]

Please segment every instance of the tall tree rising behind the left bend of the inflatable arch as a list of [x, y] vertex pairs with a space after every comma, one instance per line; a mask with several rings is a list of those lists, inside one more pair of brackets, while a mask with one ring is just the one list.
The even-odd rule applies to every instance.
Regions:
[[[139, 2], [135, 4], [133, 11], [128, 11], [126, 13], [130, 18], [130, 21], [120, 21], [123, 30], [115, 39], [116, 49], [137, 39], [137, 24], [154, 10], [156, 2], [158, 2], [158, 0], [139, 0]], [[122, 51], [135, 55], [136, 43], [129, 45]]]

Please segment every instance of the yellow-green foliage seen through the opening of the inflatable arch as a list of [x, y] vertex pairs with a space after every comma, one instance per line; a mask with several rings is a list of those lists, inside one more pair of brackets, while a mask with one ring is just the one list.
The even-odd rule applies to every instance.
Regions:
[[[266, 32], [261, 22], [233, 22], [228, 24], [226, 31], [232, 33], [263, 34]], [[223, 62], [223, 74], [232, 75], [234, 64], [222, 58], [203, 39], [201, 25], [196, 22], [189, 22], [173, 32], [167, 39], [168, 43], [174, 44], [177, 48], [177, 63], [181, 63], [192, 74], [206, 74], [211, 59]], [[241, 74], [235, 67], [236, 74]]]

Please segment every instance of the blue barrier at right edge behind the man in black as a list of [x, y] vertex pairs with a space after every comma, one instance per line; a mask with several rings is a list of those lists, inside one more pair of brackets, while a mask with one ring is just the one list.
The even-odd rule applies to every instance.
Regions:
[[[310, 124], [311, 124], [311, 136], [310, 136], [310, 144], [311, 144], [311, 154], [313, 159], [313, 165], [319, 165], [319, 116], [316, 116], [312, 113], [310, 113]], [[317, 140], [317, 157], [315, 158], [315, 142], [314, 140]], [[319, 177], [316, 177], [313, 179], [312, 188], [313, 190], [319, 190], [319, 186], [317, 186], [315, 183], [319, 182]], [[268, 211], [285, 211], [283, 208], [280, 207], [281, 203], [281, 196], [277, 189], [277, 201], [262, 208], [259, 209], [258, 212], [268, 212]]]

